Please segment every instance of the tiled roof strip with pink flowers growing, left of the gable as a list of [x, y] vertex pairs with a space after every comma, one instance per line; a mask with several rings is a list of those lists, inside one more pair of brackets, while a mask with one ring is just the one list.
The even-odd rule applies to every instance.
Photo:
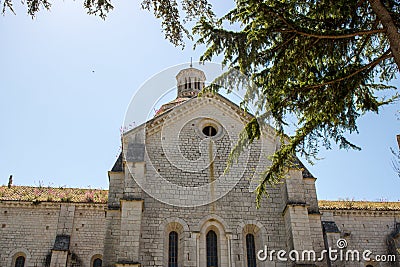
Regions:
[[0, 186], [0, 201], [107, 203], [108, 190], [32, 186]]

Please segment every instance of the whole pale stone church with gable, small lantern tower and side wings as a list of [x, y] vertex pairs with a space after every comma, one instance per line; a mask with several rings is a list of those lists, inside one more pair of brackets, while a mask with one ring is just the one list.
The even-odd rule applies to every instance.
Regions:
[[399, 266], [400, 204], [318, 201], [301, 162], [257, 209], [253, 189], [279, 143], [263, 129], [225, 172], [252, 117], [197, 96], [204, 82], [180, 71], [177, 99], [124, 133], [108, 198], [0, 187], [0, 266]]

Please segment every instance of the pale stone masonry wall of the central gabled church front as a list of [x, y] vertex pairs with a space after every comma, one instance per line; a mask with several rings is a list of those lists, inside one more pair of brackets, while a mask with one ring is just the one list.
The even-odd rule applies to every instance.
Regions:
[[[266, 155], [270, 155], [276, 147], [274, 139], [268, 135], [256, 141], [250, 153], [243, 153], [239, 163], [232, 166], [229, 175], [231, 179], [236, 179], [236, 182], [226, 195], [220, 197], [217, 191], [213, 192], [215, 189], [213, 186], [197, 190], [199, 186], [224, 179], [222, 176], [228, 154], [236, 144], [245, 123], [244, 118], [236, 114], [229, 105], [219, 101], [208, 98], [192, 99], [187, 106], [182, 105], [184, 112], [179, 111], [180, 107], [175, 108], [176, 112], [174, 110], [166, 114], [163, 122], [159, 122], [156, 118], [146, 126], [146, 140], [142, 140], [146, 145], [145, 154], [143, 157], [138, 155], [131, 157], [143, 158], [144, 163], [127, 162], [126, 165], [131, 167], [126, 168], [125, 172], [131, 171], [131, 174], [125, 173], [124, 183], [127, 186], [124, 188], [125, 199], [143, 200], [139, 257], [121, 257], [121, 262], [140, 262], [142, 266], [167, 266], [166, 236], [168, 231], [177, 229], [176, 231], [180, 233], [179, 255], [183, 257], [179, 259], [179, 266], [205, 266], [205, 235], [212, 229], [216, 232], [220, 243], [219, 266], [244, 267], [247, 266], [245, 239], [247, 233], [254, 234], [256, 251], [263, 249], [264, 246], [276, 251], [287, 250], [291, 246], [287, 239], [287, 226], [283, 216], [288, 191], [291, 193], [291, 198], [296, 194], [301, 196], [303, 206], [307, 204], [315, 207], [316, 195], [312, 188], [314, 180], [307, 181], [305, 185], [301, 171], [292, 171], [291, 173], [296, 176], [293, 177], [292, 187], [290, 189], [284, 185], [270, 187], [269, 198], [262, 201], [261, 208], [256, 208], [255, 194], [249, 189], [254, 188], [254, 182], [258, 183], [260, 171], [265, 170], [269, 164]], [[217, 135], [212, 138], [212, 145], [208, 145], [210, 140], [202, 135], [204, 125], [212, 125], [218, 130]], [[128, 134], [124, 137], [124, 140], [127, 140], [125, 147], [130, 145], [128, 140], [137, 139], [133, 134], [134, 132], [132, 136]], [[142, 173], [138, 166], [144, 166]], [[257, 174], [253, 176], [254, 173]], [[168, 183], [162, 184], [164, 181], [157, 177], [174, 185], [193, 188], [193, 191], [184, 195], [179, 188], [174, 188]], [[256, 180], [252, 180], [253, 178]], [[150, 193], [138, 190], [137, 181], [147, 186], [146, 189]], [[232, 185], [232, 181], [228, 181], [227, 184]], [[304, 197], [306, 187], [307, 199]], [[221, 188], [224, 189], [223, 185], [219, 189]], [[129, 192], [136, 193], [132, 195]], [[207, 197], [215, 201], [193, 206], [198, 199]], [[169, 205], [168, 201], [182, 205], [180, 207]], [[308, 228], [304, 228], [303, 232], [297, 232], [296, 238], [310, 240], [308, 243], [315, 244], [320, 250], [322, 231], [318, 228], [319, 217], [313, 220], [312, 226], [308, 225], [307, 209], [303, 209], [305, 220], [302, 223]], [[121, 221], [124, 220], [123, 216], [122, 212]], [[320, 232], [310, 236], [312, 230]], [[313, 238], [317, 240], [311, 241]], [[292, 265], [272, 263], [274, 266], [275, 264]], [[271, 262], [257, 264], [257, 266], [272, 265]]]

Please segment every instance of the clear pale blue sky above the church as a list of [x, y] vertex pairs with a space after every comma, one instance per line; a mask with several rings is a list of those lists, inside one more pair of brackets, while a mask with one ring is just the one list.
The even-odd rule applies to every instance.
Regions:
[[[168, 43], [138, 1], [115, 3], [105, 21], [86, 15], [81, 1], [54, 2], [35, 20], [15, 6], [16, 16], [0, 17], [0, 184], [13, 174], [18, 185], [107, 188], [134, 92], [204, 48]], [[397, 148], [399, 108], [359, 120], [350, 139], [362, 151], [321, 152], [309, 167], [320, 199], [400, 200], [389, 149]]]

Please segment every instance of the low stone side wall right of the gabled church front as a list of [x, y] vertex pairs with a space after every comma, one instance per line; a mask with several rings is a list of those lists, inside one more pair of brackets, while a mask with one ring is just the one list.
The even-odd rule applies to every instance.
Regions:
[[[353, 202], [352, 207], [342, 206], [345, 202], [338, 203], [336, 207], [320, 207], [323, 224], [328, 222], [331, 228], [325, 233], [327, 245], [337, 249], [337, 240], [344, 239], [347, 245], [343, 251], [359, 251], [360, 261], [333, 262], [332, 266], [400, 266], [399, 203], [383, 203], [381, 208], [376, 202]], [[361, 209], [363, 205], [370, 206]], [[337, 227], [336, 231], [332, 231], [332, 225]], [[371, 251], [370, 261], [362, 259], [366, 250]], [[396, 261], [389, 255], [395, 255]]]

